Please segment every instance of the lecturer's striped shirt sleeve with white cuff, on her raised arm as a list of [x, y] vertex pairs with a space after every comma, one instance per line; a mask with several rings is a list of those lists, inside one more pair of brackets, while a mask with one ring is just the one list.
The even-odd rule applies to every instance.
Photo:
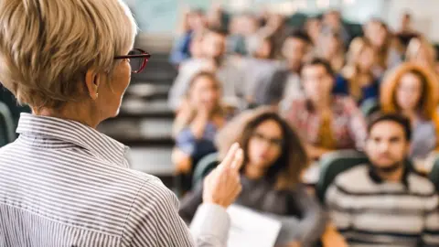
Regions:
[[178, 215], [178, 199], [158, 179], [145, 182], [124, 229], [125, 246], [223, 247], [230, 219], [218, 205], [202, 204], [190, 231]]

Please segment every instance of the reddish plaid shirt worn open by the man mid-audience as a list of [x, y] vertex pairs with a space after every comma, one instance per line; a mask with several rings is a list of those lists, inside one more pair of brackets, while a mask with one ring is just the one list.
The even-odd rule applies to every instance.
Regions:
[[[361, 148], [366, 139], [366, 121], [356, 103], [348, 97], [333, 98], [332, 137], [337, 149]], [[293, 124], [297, 133], [306, 142], [319, 143], [319, 129], [322, 118], [319, 113], [310, 111], [306, 99], [294, 99], [284, 113], [287, 121]]]

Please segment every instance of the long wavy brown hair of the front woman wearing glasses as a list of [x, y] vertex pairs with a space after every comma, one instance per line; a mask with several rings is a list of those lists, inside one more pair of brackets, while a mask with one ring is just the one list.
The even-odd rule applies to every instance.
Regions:
[[275, 188], [294, 188], [301, 182], [301, 175], [308, 165], [305, 146], [299, 136], [283, 117], [271, 108], [258, 108], [241, 113], [227, 124], [217, 136], [219, 156], [223, 158], [233, 143], [239, 143], [244, 150], [244, 166], [249, 162], [248, 145], [255, 129], [262, 123], [273, 120], [282, 129], [284, 144], [281, 156], [268, 168], [265, 177], [273, 181]]

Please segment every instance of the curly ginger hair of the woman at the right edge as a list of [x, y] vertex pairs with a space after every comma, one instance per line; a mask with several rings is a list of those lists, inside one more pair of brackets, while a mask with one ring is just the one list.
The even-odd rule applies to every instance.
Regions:
[[423, 92], [417, 110], [419, 110], [423, 119], [431, 120], [437, 107], [439, 82], [436, 80], [433, 71], [412, 62], [405, 62], [398, 66], [382, 82], [380, 92], [382, 110], [385, 113], [400, 111], [400, 107], [396, 102], [396, 91], [402, 76], [410, 73], [416, 75], [423, 83]]

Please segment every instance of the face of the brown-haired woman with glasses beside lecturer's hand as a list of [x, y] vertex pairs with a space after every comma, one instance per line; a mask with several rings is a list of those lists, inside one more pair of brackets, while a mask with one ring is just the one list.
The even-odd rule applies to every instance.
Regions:
[[281, 156], [283, 146], [282, 128], [277, 122], [267, 120], [254, 130], [249, 140], [250, 166], [268, 168]]

